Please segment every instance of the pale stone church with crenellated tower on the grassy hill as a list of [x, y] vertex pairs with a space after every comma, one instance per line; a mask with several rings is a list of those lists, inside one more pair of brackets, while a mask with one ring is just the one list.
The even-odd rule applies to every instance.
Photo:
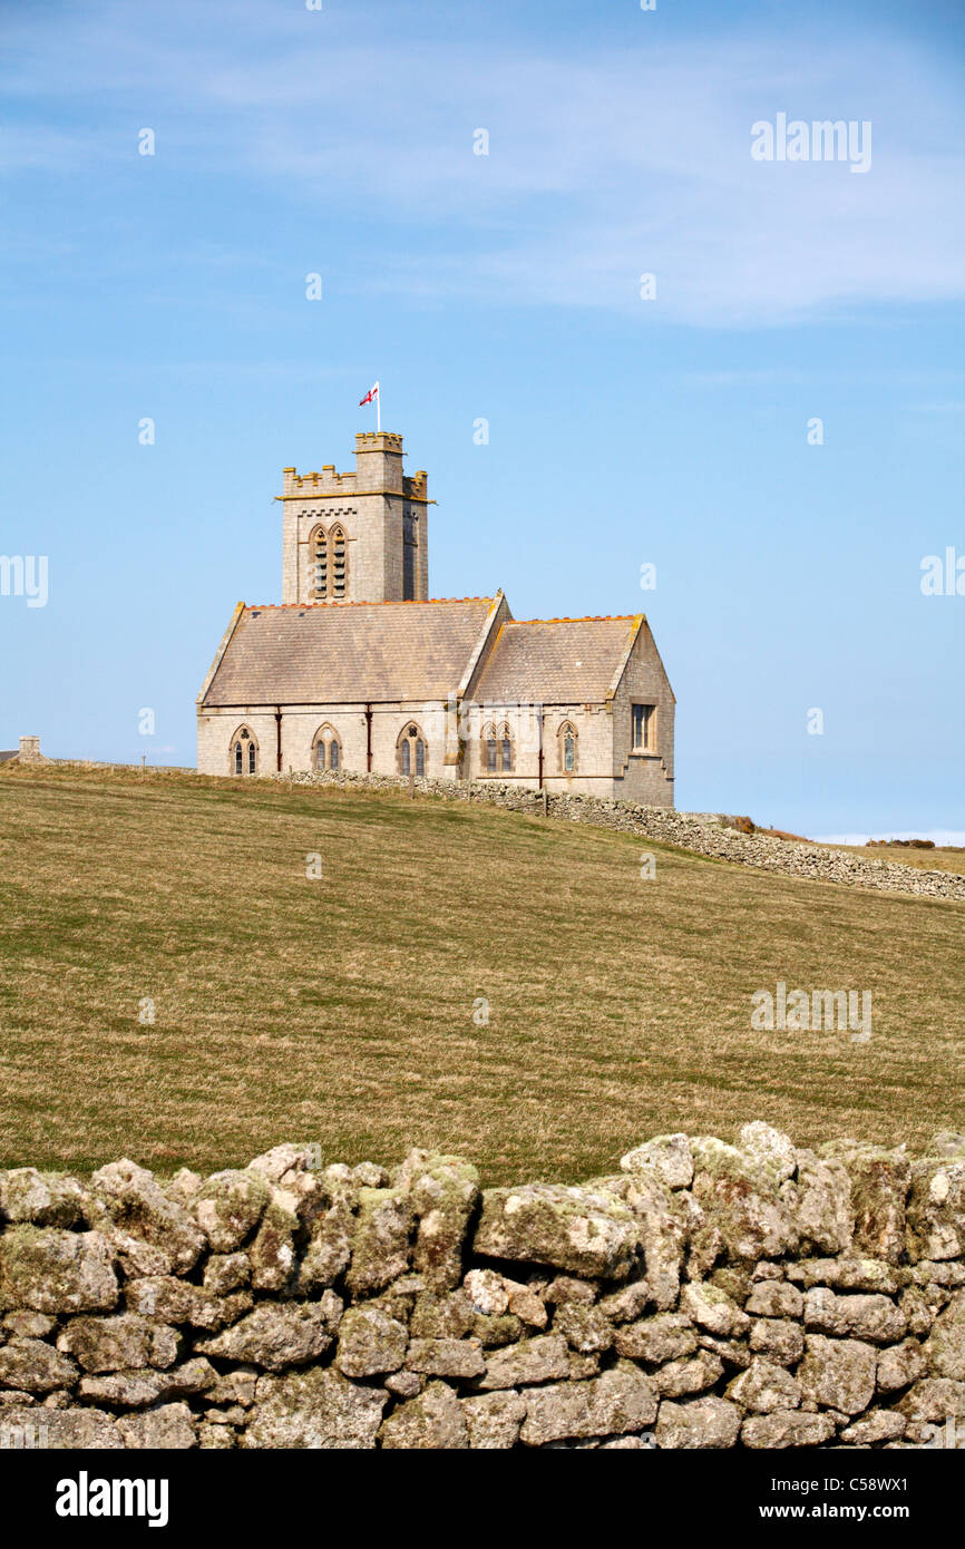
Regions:
[[429, 598], [424, 471], [283, 471], [282, 603], [239, 603], [198, 694], [198, 770], [507, 781], [674, 804], [674, 694], [643, 613], [516, 620]]

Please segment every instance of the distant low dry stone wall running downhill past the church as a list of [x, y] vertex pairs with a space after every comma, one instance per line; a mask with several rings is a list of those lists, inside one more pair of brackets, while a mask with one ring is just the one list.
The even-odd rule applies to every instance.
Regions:
[[[369, 785], [381, 790], [404, 790], [406, 779], [390, 774], [307, 773], [273, 774], [271, 779], [293, 779], [297, 785]], [[418, 779], [415, 788], [448, 801], [485, 801], [511, 812], [544, 812], [544, 793], [520, 790], [500, 781], [451, 782]], [[925, 871], [895, 861], [866, 860], [847, 850], [832, 850], [819, 844], [793, 844], [767, 833], [739, 833], [723, 826], [714, 813], [677, 812], [674, 807], [643, 807], [630, 801], [601, 801], [596, 796], [547, 793], [545, 810], [551, 818], [589, 823], [598, 829], [620, 829], [643, 840], [675, 844], [714, 860], [759, 866], [790, 877], [815, 881], [849, 883], [880, 892], [909, 892], [929, 898], [965, 898], [965, 877], [954, 872]]]

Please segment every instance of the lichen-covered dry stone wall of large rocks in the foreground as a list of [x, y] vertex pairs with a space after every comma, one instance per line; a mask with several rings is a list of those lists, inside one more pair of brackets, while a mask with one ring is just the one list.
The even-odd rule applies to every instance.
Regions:
[[965, 1445], [965, 1135], [931, 1151], [750, 1123], [482, 1191], [426, 1151], [14, 1168], [0, 1444]]

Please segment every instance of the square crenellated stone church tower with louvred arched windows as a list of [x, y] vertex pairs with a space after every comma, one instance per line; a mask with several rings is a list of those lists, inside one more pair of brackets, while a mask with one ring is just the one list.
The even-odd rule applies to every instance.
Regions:
[[355, 472], [283, 469], [282, 603], [424, 603], [424, 469], [403, 472], [403, 438], [359, 431]]

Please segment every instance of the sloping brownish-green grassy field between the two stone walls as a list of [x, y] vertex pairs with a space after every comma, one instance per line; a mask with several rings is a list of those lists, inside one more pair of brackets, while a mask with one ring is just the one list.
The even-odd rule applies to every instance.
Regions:
[[[3, 1166], [291, 1139], [575, 1180], [668, 1129], [965, 1128], [962, 905], [652, 844], [641, 880], [627, 835], [187, 774], [6, 767], [0, 847]], [[871, 1042], [751, 1032], [778, 979], [871, 990]]]

